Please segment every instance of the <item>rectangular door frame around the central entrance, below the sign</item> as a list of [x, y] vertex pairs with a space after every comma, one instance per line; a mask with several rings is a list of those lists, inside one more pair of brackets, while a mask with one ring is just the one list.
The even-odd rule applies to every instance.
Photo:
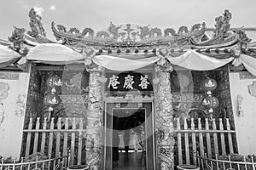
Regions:
[[[112, 167], [112, 156], [110, 156], [110, 160], [111, 160], [111, 168], [110, 169], [107, 169], [107, 167], [109, 167], [107, 165], [107, 161], [109, 161], [109, 157], [107, 156], [107, 139], [106, 139], [106, 136], [109, 134], [108, 132], [108, 128], [107, 128], [107, 105], [109, 104], [112, 104], [112, 105], [115, 105], [117, 103], [151, 103], [151, 122], [152, 122], [152, 149], [153, 149], [153, 168], [148, 168], [147, 167], [147, 170], [151, 170], [151, 169], [155, 169], [156, 168], [156, 143], [155, 143], [155, 135], [154, 135], [154, 132], [155, 132], [155, 125], [154, 125], [154, 98], [148, 98], [148, 99], [143, 99], [143, 98], [139, 98], [139, 99], [124, 99], [124, 98], [118, 98], [118, 99], [114, 99], [113, 97], [110, 97], [110, 98], [106, 98], [104, 99], [104, 112], [103, 112], [103, 135], [102, 135], [102, 167], [103, 169], [106, 169], [106, 170], [112, 170], [113, 167]], [[131, 107], [132, 109], [133, 107]], [[111, 111], [113, 110], [113, 108], [111, 108]], [[146, 113], [145, 113], [146, 114]], [[111, 112], [111, 116], [113, 116], [113, 112]], [[147, 153], [147, 152], [146, 152]], [[148, 163], [147, 163], [147, 166], [148, 166]]]

